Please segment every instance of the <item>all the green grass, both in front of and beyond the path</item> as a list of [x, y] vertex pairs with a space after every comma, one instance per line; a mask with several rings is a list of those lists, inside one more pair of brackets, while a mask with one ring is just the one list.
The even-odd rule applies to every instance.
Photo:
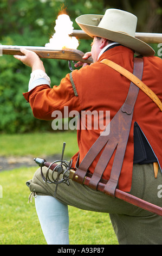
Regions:
[[[67, 156], [72, 156], [77, 150], [76, 137], [68, 132], [0, 135], [0, 141], [1, 156], [58, 154], [61, 152], [63, 141], [67, 142]], [[28, 204], [29, 189], [25, 185], [25, 182], [32, 178], [36, 168], [23, 166], [0, 172], [3, 192], [0, 198], [1, 245], [46, 245], [36, 215], [34, 199]], [[70, 206], [69, 219], [71, 245], [118, 244], [108, 214], [83, 211]]]

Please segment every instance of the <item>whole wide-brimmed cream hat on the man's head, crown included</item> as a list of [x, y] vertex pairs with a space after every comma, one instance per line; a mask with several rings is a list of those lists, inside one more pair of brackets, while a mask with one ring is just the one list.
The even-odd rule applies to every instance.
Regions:
[[80, 28], [92, 38], [99, 36], [131, 48], [142, 56], [153, 56], [150, 45], [135, 38], [137, 17], [127, 11], [107, 9], [105, 15], [85, 14], [76, 18]]

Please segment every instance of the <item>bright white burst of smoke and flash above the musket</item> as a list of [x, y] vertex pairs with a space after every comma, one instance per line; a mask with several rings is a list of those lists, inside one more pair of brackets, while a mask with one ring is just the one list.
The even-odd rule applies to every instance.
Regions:
[[55, 33], [45, 47], [54, 50], [77, 49], [79, 41], [75, 36], [69, 36], [73, 33], [73, 29], [73, 22], [70, 17], [67, 14], [59, 15], [56, 20]]

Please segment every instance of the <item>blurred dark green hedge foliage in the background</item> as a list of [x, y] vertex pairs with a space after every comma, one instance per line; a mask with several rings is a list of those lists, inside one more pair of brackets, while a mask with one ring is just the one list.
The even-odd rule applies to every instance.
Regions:
[[[161, 30], [162, 4], [159, 0], [1, 0], [0, 43], [44, 46], [54, 34], [55, 20], [63, 10], [73, 21], [74, 29], [80, 29], [75, 22], [77, 16], [104, 14], [108, 8], [137, 15], [137, 32], [159, 33]], [[90, 42], [80, 40], [78, 49], [90, 51]], [[28, 90], [30, 68], [13, 56], [2, 56], [0, 60], [0, 132], [50, 131], [51, 122], [35, 119], [22, 95]], [[43, 59], [43, 63], [51, 86], [59, 85], [61, 78], [70, 72], [66, 60]]]

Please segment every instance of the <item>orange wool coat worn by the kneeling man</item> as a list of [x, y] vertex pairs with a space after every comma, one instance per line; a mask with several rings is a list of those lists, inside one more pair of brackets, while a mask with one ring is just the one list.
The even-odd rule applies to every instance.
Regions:
[[[24, 97], [30, 102], [33, 114], [38, 119], [52, 120], [52, 112], [59, 110], [64, 113], [64, 106], [68, 106], [68, 111], [109, 111], [110, 120], [125, 102], [130, 86], [130, 81], [118, 72], [109, 68], [107, 65], [101, 64], [102, 59], [110, 59], [121, 65], [125, 69], [133, 72], [134, 53], [131, 49], [124, 46], [116, 46], [109, 49], [99, 58], [98, 62], [90, 66], [85, 66], [80, 70], [72, 72], [73, 86], [75, 85], [76, 94], [72, 87], [69, 74], [61, 80], [60, 85], [49, 88], [46, 85], [40, 85], [28, 93], [24, 93]], [[162, 60], [158, 57], [144, 57], [144, 72], [142, 81], [153, 90], [162, 101]], [[130, 191], [132, 184], [133, 169], [133, 126], [136, 121], [140, 129], [150, 143], [151, 148], [158, 159], [160, 167], [162, 167], [162, 118], [160, 109], [155, 103], [141, 90], [139, 90], [138, 98], [135, 103], [131, 130], [128, 138], [124, 163], [122, 165], [119, 177], [119, 189], [122, 191]], [[81, 116], [80, 116], [81, 118]], [[111, 126], [110, 126], [111, 127]], [[111, 128], [110, 128], [111, 129]], [[80, 162], [99, 137], [100, 130], [77, 130], [77, 141], [79, 145]], [[77, 160], [78, 153], [73, 158], [73, 167]], [[114, 156], [113, 156], [114, 157]], [[105, 172], [104, 179], [109, 179], [113, 157], [109, 161]], [[95, 165], [99, 157], [89, 167], [93, 173]], [[153, 173], [152, 173], [153, 175]]]

